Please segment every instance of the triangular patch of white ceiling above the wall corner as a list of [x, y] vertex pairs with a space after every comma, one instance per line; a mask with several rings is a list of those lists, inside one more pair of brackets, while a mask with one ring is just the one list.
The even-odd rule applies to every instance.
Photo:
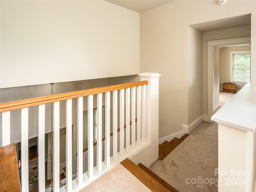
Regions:
[[105, 0], [132, 11], [141, 13], [143, 11], [158, 7], [174, 0]]

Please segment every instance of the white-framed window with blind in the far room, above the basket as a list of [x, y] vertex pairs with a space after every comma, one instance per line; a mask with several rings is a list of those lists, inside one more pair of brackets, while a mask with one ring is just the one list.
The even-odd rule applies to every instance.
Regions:
[[247, 83], [251, 80], [250, 51], [230, 51], [230, 81]]

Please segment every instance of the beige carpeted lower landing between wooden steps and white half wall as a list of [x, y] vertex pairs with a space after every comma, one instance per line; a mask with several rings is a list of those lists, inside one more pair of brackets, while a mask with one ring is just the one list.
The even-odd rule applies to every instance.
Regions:
[[150, 170], [179, 192], [217, 192], [218, 124], [202, 122]]

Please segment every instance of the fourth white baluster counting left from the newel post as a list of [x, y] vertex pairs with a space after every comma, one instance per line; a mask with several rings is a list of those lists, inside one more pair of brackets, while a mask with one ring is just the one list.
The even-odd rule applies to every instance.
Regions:
[[130, 152], [130, 88], [126, 88], [125, 94], [125, 148], [126, 152]]

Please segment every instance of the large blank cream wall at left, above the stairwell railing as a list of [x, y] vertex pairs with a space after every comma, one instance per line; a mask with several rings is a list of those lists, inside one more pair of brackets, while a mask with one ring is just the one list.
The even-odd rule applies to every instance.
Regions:
[[140, 72], [139, 13], [104, 0], [0, 4], [0, 88]]

